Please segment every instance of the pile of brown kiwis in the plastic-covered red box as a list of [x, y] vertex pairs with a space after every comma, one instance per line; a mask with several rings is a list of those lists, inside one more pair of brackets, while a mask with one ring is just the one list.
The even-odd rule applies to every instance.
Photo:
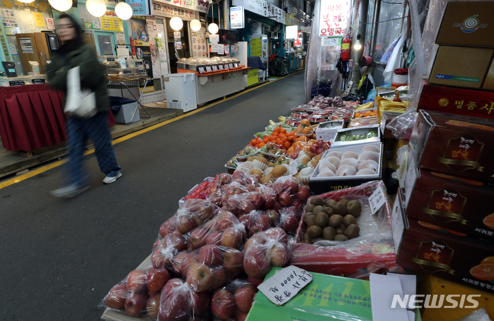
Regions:
[[317, 241], [348, 241], [360, 233], [356, 217], [360, 216], [362, 204], [358, 200], [323, 200], [311, 198], [305, 206], [303, 222], [307, 224], [303, 243]]

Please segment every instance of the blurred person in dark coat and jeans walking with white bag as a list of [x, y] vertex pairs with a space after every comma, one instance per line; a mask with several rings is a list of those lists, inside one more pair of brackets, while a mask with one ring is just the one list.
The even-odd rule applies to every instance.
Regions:
[[91, 89], [96, 95], [95, 116], [90, 118], [67, 117], [69, 136], [69, 163], [66, 165], [67, 182], [64, 187], [51, 191], [58, 198], [73, 198], [89, 189], [82, 157], [86, 140], [91, 137], [99, 169], [106, 175], [103, 182], [111, 184], [122, 176], [115, 157], [108, 129], [110, 102], [106, 91], [103, 69], [91, 45], [85, 45], [80, 25], [69, 14], [62, 14], [57, 21], [62, 47], [54, 51], [51, 63], [47, 64], [49, 85], [59, 91], [67, 91], [67, 71], [80, 67], [81, 89]]

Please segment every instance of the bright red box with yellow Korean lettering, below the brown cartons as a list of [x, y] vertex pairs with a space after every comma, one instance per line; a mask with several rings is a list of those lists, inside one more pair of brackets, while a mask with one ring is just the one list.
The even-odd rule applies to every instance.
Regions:
[[418, 109], [494, 118], [494, 92], [427, 84]]

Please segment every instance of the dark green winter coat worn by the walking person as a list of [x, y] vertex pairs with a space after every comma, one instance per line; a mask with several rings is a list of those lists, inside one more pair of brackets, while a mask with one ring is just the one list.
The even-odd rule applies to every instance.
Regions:
[[91, 89], [95, 93], [98, 112], [108, 112], [110, 102], [104, 69], [90, 45], [82, 45], [71, 51], [54, 51], [51, 64], [46, 67], [49, 85], [59, 91], [67, 91], [67, 71], [77, 66], [80, 66], [81, 88]]

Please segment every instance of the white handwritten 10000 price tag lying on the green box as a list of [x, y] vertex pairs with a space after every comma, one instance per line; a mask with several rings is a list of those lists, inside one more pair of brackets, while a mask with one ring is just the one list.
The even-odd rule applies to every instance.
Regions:
[[313, 277], [309, 272], [290, 265], [261, 283], [257, 289], [275, 305], [284, 305], [298, 292], [311, 283]]

